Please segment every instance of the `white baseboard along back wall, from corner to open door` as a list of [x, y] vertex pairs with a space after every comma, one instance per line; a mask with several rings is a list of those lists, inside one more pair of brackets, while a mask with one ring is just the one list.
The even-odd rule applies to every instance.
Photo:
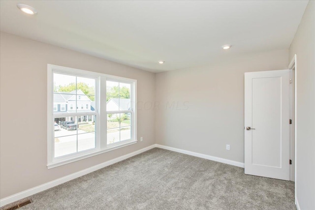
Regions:
[[238, 166], [238, 167], [244, 168], [244, 163], [237, 162], [237, 161], [234, 161], [234, 160], [228, 160], [228, 159], [224, 159], [224, 158], [221, 158], [221, 157], [215, 157], [215, 156], [211, 156], [211, 155], [208, 155], [208, 154], [201, 154], [201, 153], [198, 153], [198, 152], [193, 152], [193, 151], [188, 151], [188, 150], [181, 150], [181, 149], [172, 148], [172, 147], [168, 147], [168, 146], [164, 146], [164, 145], [156, 144], [156, 147], [157, 148], [161, 148], [161, 149], [165, 149], [165, 150], [177, 151], [177, 152], [180, 152], [180, 153], [183, 153], [183, 154], [189, 154], [189, 155], [192, 155], [192, 156], [201, 157], [201, 158], [204, 158], [204, 159], [213, 160], [213, 161], [217, 161], [217, 162], [221, 162], [221, 163], [226, 163], [226, 164], [229, 164], [229, 165], [232, 165], [232, 166]]

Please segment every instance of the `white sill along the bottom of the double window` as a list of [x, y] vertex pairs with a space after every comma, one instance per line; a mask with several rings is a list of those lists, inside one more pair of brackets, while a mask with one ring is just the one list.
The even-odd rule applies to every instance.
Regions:
[[68, 163], [72, 163], [72, 162], [75, 162], [75, 161], [78, 161], [78, 160], [82, 160], [82, 159], [85, 159], [85, 158], [88, 158], [88, 157], [92, 157], [92, 156], [95, 156], [95, 155], [98, 155], [98, 154], [101, 154], [101, 153], [104, 153], [104, 152], [117, 150], [117, 149], [129, 146], [129, 145], [133, 145], [133, 144], [136, 144], [136, 143], [137, 143], [137, 140], [129, 140], [129, 141], [126, 141], [124, 143], [114, 144], [114, 145], [108, 146], [106, 149], [103, 149], [103, 150], [94, 151], [94, 152], [91, 152], [91, 153], [88, 153], [88, 154], [84, 154], [84, 155], [79, 156], [79, 157], [74, 157], [74, 158], [70, 158], [70, 159], [67, 159], [67, 160], [59, 161], [59, 162], [49, 163], [49, 164], [47, 164], [47, 168], [48, 169], [55, 168], [55, 167], [62, 166], [62, 165], [68, 164]]

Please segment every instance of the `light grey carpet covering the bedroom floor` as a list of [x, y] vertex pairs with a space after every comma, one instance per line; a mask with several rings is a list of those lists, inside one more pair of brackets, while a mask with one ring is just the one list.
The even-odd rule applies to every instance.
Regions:
[[158, 148], [31, 198], [21, 210], [296, 210], [294, 182]]

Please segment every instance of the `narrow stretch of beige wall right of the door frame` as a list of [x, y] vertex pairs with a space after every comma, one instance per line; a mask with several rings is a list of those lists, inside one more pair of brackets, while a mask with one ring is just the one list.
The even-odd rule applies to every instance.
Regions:
[[297, 55], [296, 190], [301, 210], [315, 210], [315, 1], [309, 1], [289, 49]]

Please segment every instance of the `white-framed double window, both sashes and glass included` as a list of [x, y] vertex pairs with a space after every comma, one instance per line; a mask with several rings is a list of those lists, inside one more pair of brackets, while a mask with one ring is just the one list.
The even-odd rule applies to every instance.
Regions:
[[47, 167], [136, 143], [135, 101], [136, 80], [48, 64]]

